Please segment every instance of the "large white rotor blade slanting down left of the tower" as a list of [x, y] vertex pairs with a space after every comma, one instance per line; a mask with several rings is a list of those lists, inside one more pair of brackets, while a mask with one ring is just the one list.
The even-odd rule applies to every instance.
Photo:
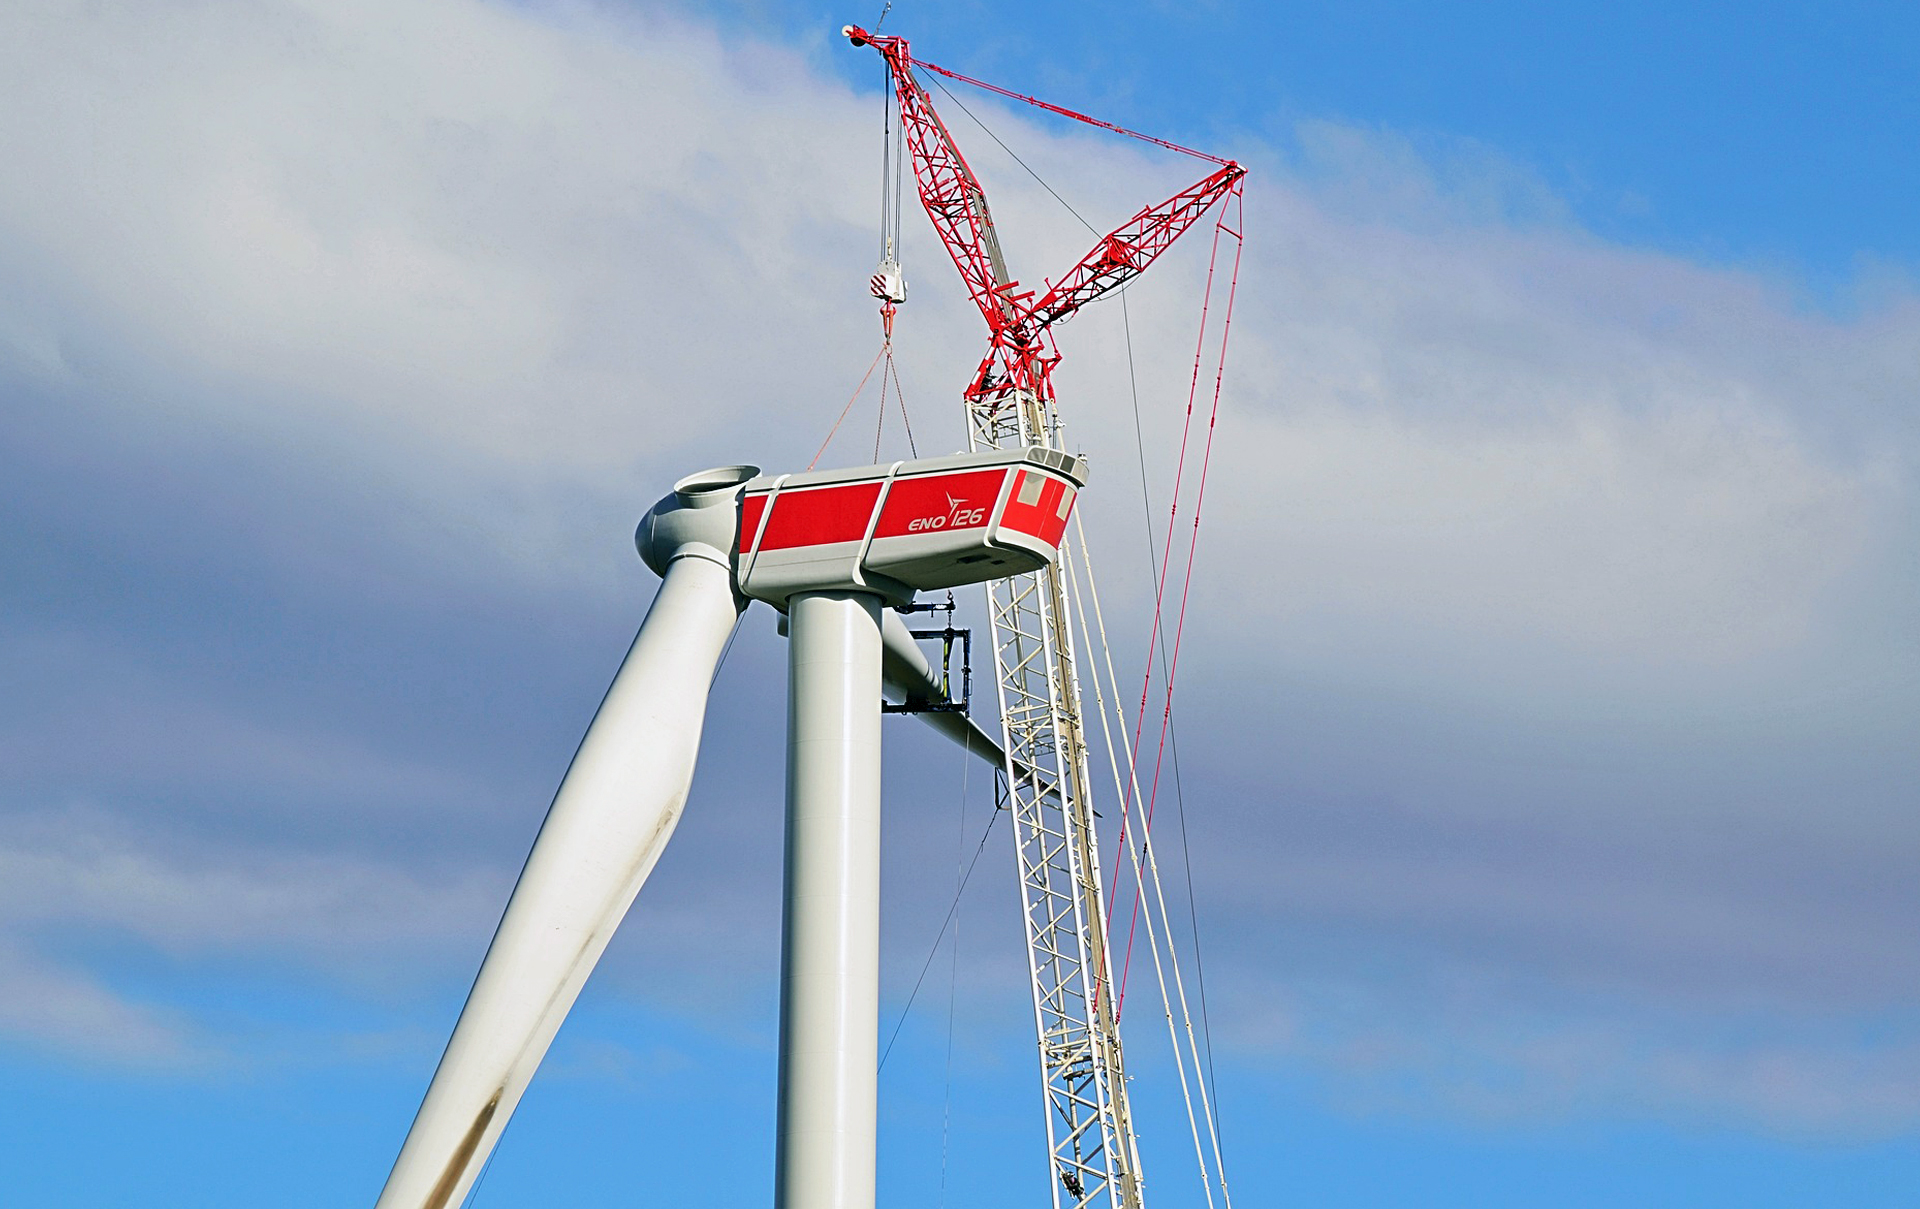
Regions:
[[680, 821], [707, 689], [739, 608], [724, 564], [668, 564], [547, 810], [376, 1209], [465, 1199]]

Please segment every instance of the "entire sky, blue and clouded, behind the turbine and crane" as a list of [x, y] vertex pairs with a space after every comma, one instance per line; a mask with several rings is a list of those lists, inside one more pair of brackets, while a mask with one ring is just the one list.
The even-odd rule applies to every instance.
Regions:
[[[804, 464], [874, 355], [877, 69], [835, 31], [876, 15], [0, 17], [21, 1203], [371, 1203], [651, 597], [634, 518], [705, 464]], [[902, 0], [887, 29], [1254, 169], [1179, 699], [1236, 1197], [1910, 1203], [1912, 19]], [[973, 111], [1096, 219], [1190, 175]], [[1069, 263], [1085, 232], [954, 129], [1016, 274]], [[904, 259], [916, 434], [958, 443], [979, 320], [918, 215]], [[1202, 273], [1183, 248], [1129, 294], [1156, 491]], [[1119, 315], [1062, 349], [1139, 633]], [[780, 676], [755, 610], [687, 821], [476, 1203], [766, 1199]], [[891, 1021], [987, 798], [889, 727]], [[989, 837], [883, 1071], [887, 1205], [1043, 1196], [1010, 864]], [[1144, 1025], [1152, 1196], [1198, 1203]]]

